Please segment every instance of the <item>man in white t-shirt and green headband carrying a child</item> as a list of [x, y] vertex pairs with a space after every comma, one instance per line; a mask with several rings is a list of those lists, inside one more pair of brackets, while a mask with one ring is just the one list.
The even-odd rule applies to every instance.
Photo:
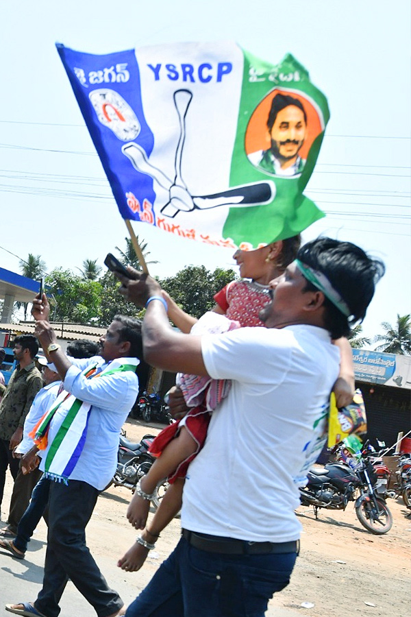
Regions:
[[[338, 376], [331, 338], [364, 318], [384, 265], [351, 243], [313, 241], [271, 282], [260, 313], [268, 330], [202, 337], [173, 331], [158, 283], [130, 274], [119, 276], [121, 292], [147, 308], [147, 362], [230, 379], [232, 388], [188, 468], [182, 540], [126, 617], [262, 617], [299, 551], [298, 486], [323, 446]], [[153, 548], [160, 531], [151, 524], [151, 540], [138, 541]]]

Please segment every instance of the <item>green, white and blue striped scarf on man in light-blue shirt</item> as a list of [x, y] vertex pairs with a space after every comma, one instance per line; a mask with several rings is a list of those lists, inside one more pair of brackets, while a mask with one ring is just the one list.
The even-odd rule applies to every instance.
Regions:
[[[116, 359], [96, 374], [98, 369], [96, 362], [88, 366], [82, 374], [86, 378], [92, 378], [124, 371], [135, 373], [138, 363], [138, 359], [127, 358], [127, 364], [121, 359]], [[90, 409], [90, 403], [83, 402], [63, 390], [30, 433], [29, 436], [32, 437], [39, 450], [47, 450], [45, 452], [45, 477], [67, 484], [84, 448]], [[55, 413], [58, 410], [60, 426], [49, 444], [49, 428], [53, 419], [57, 421]]]

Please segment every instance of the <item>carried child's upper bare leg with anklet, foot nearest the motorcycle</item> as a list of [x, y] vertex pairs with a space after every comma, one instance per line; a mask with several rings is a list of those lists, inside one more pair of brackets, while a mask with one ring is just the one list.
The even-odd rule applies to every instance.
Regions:
[[[142, 477], [140, 487], [147, 494], [152, 494], [160, 481], [169, 476], [182, 461], [195, 453], [197, 442], [182, 426], [179, 434], [172, 439], [155, 459], [149, 472]], [[168, 493], [169, 491], [167, 491]], [[127, 519], [136, 529], [144, 529], [149, 514], [150, 501], [134, 493], [127, 509]]]

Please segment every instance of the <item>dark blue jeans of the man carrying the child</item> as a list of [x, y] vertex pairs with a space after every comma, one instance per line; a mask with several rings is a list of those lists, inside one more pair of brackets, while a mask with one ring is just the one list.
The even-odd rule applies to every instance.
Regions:
[[264, 617], [296, 559], [296, 553], [208, 553], [182, 538], [125, 617]]

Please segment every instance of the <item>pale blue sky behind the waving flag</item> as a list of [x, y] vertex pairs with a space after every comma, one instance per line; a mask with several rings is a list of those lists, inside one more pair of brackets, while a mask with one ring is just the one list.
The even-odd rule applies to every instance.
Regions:
[[[353, 241], [387, 267], [364, 322], [410, 312], [410, 3], [397, 0], [158, 0], [2, 8], [0, 266], [40, 254], [48, 269], [102, 264], [127, 235], [55, 51], [55, 42], [109, 53], [184, 40], [231, 39], [269, 62], [290, 52], [327, 96], [331, 120], [306, 194], [327, 213], [303, 233]], [[171, 276], [190, 263], [233, 264], [229, 250], [136, 233]], [[361, 293], [358, 290], [358, 293]]]

